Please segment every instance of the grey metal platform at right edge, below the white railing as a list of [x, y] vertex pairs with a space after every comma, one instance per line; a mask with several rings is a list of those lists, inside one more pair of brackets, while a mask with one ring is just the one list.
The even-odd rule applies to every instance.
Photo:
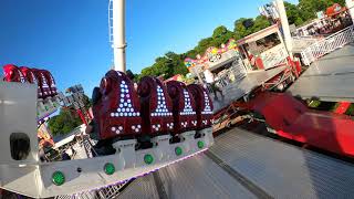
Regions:
[[288, 90], [293, 96], [354, 102], [354, 44], [315, 61]]

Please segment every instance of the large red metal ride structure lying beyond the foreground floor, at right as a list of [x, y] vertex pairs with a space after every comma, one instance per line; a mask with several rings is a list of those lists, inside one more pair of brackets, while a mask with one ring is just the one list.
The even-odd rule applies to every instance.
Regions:
[[267, 125], [281, 137], [354, 157], [354, 121], [350, 116], [310, 109], [285, 93], [260, 92], [248, 103], [232, 105], [257, 113], [252, 117], [263, 116]]

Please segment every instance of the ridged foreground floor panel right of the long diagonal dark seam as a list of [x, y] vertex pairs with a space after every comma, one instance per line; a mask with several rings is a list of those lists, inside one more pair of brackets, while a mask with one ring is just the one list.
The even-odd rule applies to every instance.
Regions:
[[353, 198], [354, 166], [235, 128], [210, 151], [274, 198]]

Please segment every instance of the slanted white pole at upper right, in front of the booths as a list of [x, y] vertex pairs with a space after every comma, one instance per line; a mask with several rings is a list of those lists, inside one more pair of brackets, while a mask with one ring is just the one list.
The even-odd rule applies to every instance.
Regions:
[[281, 27], [283, 29], [284, 42], [290, 57], [292, 59], [292, 38], [290, 34], [289, 21], [283, 0], [275, 0], [277, 9], [280, 17]]

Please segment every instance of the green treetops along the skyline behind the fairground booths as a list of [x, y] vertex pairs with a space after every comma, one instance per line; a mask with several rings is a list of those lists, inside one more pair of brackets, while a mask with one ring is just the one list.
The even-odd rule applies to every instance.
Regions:
[[[290, 24], [301, 25], [314, 18], [316, 12], [325, 11], [333, 3], [345, 4], [345, 0], [299, 0], [299, 4], [285, 2], [285, 10]], [[187, 74], [188, 71], [184, 65], [185, 57], [196, 59], [198, 54], [204, 55], [205, 51], [210, 46], [219, 48], [222, 43], [227, 43], [229, 39], [239, 40], [257, 31], [271, 25], [271, 22], [262, 15], [257, 18], [240, 18], [233, 23], [233, 31], [228, 30], [225, 25], [217, 27], [211, 36], [201, 39], [198, 44], [181, 54], [167, 52], [164, 56], [157, 57], [155, 63], [145, 67], [135, 80], [145, 75], [159, 76], [165, 78], [176, 74]]]

